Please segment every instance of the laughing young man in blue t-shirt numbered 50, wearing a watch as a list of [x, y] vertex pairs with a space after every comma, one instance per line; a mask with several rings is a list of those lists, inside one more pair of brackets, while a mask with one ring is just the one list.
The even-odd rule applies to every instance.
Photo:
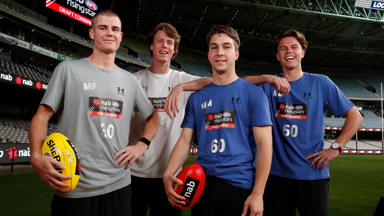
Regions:
[[[265, 186], [264, 215], [328, 215], [328, 162], [336, 158], [362, 122], [359, 111], [327, 76], [301, 70], [308, 42], [296, 30], [280, 32], [274, 41], [276, 58], [288, 80], [288, 95], [262, 86], [273, 121], [273, 157]], [[254, 82], [256, 77], [245, 77]], [[341, 135], [324, 150], [326, 110], [346, 117]]]

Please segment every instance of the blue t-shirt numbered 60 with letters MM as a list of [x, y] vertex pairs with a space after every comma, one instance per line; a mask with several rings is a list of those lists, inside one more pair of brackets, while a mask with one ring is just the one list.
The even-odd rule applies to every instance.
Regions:
[[253, 188], [256, 143], [252, 127], [271, 125], [263, 90], [238, 78], [228, 85], [210, 83], [187, 102], [182, 128], [197, 130], [197, 164], [239, 188]]

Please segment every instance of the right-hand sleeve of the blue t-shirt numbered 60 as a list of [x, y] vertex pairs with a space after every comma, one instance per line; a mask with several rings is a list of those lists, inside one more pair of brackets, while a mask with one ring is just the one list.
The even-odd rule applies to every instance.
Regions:
[[251, 126], [272, 125], [269, 102], [264, 91], [257, 87], [251, 95]]

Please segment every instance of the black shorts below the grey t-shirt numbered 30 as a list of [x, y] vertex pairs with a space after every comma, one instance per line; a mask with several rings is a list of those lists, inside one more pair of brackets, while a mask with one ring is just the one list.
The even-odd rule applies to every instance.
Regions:
[[131, 216], [131, 196], [131, 184], [106, 194], [83, 198], [65, 198], [55, 194], [51, 202], [51, 215]]

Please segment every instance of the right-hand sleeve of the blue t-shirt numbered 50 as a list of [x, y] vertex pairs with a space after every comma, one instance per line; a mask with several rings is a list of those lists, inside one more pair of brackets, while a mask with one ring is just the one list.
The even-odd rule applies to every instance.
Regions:
[[331, 110], [338, 117], [343, 116], [354, 106], [328, 77], [325, 80], [324, 98], [324, 108]]

